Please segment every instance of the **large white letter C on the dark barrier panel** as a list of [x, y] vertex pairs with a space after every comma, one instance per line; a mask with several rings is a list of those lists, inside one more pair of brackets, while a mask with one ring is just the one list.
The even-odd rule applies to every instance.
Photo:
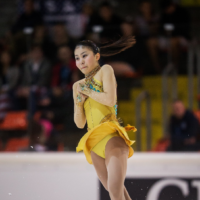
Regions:
[[164, 179], [164, 180], [162, 179], [156, 182], [150, 188], [146, 200], [152, 200], [152, 199], [158, 200], [162, 189], [169, 185], [177, 186], [178, 188], [180, 188], [184, 196], [187, 196], [189, 194], [189, 189], [186, 181], [178, 179]]

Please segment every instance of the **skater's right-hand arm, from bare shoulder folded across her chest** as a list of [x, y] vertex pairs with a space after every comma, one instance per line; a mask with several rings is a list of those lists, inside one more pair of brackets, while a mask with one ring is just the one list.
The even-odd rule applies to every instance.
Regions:
[[96, 92], [92, 89], [81, 90], [80, 86], [78, 87], [78, 91], [101, 104], [112, 107], [116, 103], [116, 79], [114, 70], [110, 65], [104, 65], [101, 72], [104, 92]]

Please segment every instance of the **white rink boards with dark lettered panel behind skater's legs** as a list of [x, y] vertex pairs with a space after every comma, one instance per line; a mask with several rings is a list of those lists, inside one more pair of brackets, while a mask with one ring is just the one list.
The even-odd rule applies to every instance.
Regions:
[[[200, 153], [135, 153], [125, 186], [134, 200], [200, 200]], [[110, 198], [83, 153], [0, 154], [0, 200], [55, 199]]]

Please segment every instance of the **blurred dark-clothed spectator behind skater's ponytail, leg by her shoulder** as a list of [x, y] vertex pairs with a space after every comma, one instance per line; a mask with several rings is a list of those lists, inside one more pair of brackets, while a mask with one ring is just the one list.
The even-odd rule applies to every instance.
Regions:
[[[121, 24], [122, 36], [133, 36], [136, 34], [135, 24], [133, 20], [127, 19]], [[116, 76], [131, 77], [136, 71], [142, 69], [142, 43], [136, 37], [136, 44], [114, 56], [109, 56], [108, 62], [114, 69]]]

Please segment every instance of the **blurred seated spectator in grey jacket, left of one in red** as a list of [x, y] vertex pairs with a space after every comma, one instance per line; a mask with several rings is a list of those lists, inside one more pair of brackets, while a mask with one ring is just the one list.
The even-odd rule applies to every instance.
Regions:
[[36, 111], [38, 98], [47, 92], [50, 85], [50, 76], [50, 62], [44, 57], [41, 46], [34, 45], [30, 52], [30, 58], [24, 64], [23, 77], [16, 92], [18, 98], [25, 100], [28, 97], [30, 98], [29, 109], [31, 109], [31, 115]]

